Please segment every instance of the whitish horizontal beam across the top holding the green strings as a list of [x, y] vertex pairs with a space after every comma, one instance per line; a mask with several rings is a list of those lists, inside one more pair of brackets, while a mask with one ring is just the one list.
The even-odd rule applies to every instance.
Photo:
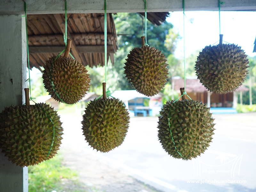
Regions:
[[[26, 0], [27, 14], [64, 13], [64, 0]], [[103, 13], [103, 0], [72, 0], [67, 2], [68, 13]], [[147, 0], [148, 12], [182, 11], [182, 0]], [[186, 0], [186, 11], [218, 11], [218, 1]], [[221, 11], [256, 11], [255, 0], [225, 0]], [[107, 12], [144, 12], [142, 0], [107, 0]], [[1, 0], [0, 15], [24, 14], [21, 0]]]

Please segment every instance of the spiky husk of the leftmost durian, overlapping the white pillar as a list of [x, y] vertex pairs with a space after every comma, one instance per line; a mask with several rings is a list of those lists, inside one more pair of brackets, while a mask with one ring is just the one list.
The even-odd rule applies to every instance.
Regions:
[[[54, 142], [47, 157], [53, 139], [52, 123]], [[12, 163], [21, 167], [41, 163], [59, 150], [61, 124], [56, 111], [44, 103], [5, 108], [0, 113], [0, 149]]]

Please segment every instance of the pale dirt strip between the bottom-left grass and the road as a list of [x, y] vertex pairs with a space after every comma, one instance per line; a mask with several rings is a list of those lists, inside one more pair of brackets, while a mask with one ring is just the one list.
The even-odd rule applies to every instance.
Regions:
[[62, 149], [64, 165], [79, 173], [79, 181], [88, 192], [161, 192], [84, 150]]

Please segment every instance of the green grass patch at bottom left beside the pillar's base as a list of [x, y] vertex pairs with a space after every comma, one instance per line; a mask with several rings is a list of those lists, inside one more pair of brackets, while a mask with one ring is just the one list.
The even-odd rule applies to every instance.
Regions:
[[78, 181], [78, 173], [65, 167], [57, 154], [41, 164], [28, 167], [29, 192], [86, 192], [92, 191]]

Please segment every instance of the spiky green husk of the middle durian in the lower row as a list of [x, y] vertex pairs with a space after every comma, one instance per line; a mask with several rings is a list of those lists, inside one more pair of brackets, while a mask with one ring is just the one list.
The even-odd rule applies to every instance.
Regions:
[[85, 140], [100, 152], [108, 152], [124, 141], [129, 124], [129, 113], [118, 99], [91, 101], [83, 115]]

